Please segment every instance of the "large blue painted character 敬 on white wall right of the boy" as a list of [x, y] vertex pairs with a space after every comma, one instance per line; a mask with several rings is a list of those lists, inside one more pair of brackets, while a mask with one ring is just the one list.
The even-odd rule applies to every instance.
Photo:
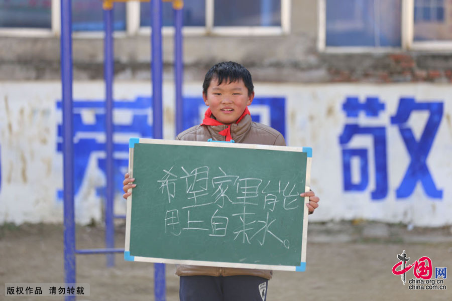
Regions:
[[[369, 135], [373, 138], [375, 162], [375, 190], [372, 191], [372, 200], [382, 200], [388, 194], [387, 175], [387, 146], [386, 127], [363, 126], [351, 118], [357, 118], [361, 112], [367, 117], [378, 117], [384, 111], [385, 105], [378, 97], [367, 97], [360, 102], [358, 97], [347, 97], [343, 110], [349, 118], [349, 123], [339, 137], [342, 146], [344, 190], [364, 191], [369, 185], [369, 152], [367, 148], [350, 148], [348, 143], [355, 135]], [[408, 119], [414, 111], [427, 111], [429, 117], [419, 141], [416, 140], [413, 130], [408, 126]], [[427, 167], [426, 160], [431, 150], [433, 140], [438, 131], [443, 114], [442, 102], [416, 102], [414, 98], [401, 97], [397, 112], [391, 117], [391, 124], [397, 125], [405, 143], [410, 164], [405, 175], [396, 189], [396, 198], [403, 199], [412, 195], [417, 182], [422, 184], [424, 192], [432, 199], [442, 199], [442, 190], [436, 188], [433, 177]], [[352, 181], [352, 160], [359, 160], [360, 181]]]

